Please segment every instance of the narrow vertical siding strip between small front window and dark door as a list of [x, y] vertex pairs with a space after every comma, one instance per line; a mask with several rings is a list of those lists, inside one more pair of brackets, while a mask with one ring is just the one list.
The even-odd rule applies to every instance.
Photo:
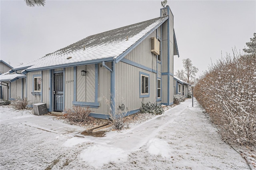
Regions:
[[42, 71], [42, 102], [50, 107], [50, 70]]

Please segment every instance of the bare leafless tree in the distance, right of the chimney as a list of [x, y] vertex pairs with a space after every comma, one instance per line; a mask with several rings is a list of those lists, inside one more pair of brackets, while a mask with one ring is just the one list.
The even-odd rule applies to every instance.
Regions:
[[192, 65], [192, 61], [190, 58], [187, 59], [183, 59], [182, 60], [183, 63], [183, 67], [184, 67], [184, 74], [186, 75], [185, 79], [187, 83], [192, 83], [192, 81], [194, 81], [194, 79], [196, 78], [196, 73], [198, 72], [198, 68], [194, 67]]

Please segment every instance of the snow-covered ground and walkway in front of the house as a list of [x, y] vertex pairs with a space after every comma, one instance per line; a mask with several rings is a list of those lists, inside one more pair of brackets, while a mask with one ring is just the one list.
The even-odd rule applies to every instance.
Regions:
[[32, 113], [0, 107], [1, 170], [254, 168], [221, 140], [196, 100], [104, 137]]

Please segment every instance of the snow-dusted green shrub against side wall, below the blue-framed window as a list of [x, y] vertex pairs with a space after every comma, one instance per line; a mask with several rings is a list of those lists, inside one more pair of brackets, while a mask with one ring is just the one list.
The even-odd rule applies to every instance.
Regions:
[[162, 115], [164, 113], [164, 109], [162, 105], [158, 105], [157, 103], [141, 103], [140, 113], [151, 113], [152, 115]]

